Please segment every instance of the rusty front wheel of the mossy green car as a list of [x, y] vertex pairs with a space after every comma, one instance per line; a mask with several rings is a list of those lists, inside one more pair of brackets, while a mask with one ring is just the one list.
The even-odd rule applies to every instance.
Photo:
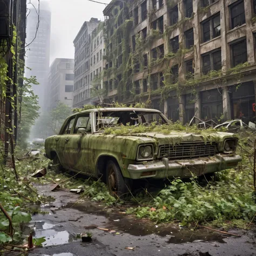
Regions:
[[109, 160], [106, 167], [106, 184], [109, 191], [118, 197], [129, 192], [127, 184], [118, 164]]

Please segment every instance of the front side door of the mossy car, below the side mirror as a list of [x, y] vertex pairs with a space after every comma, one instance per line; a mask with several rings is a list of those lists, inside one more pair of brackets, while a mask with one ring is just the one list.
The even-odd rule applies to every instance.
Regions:
[[[78, 129], [80, 128], [85, 129], [86, 133], [79, 133]], [[90, 113], [77, 114], [72, 134], [65, 138], [65, 158], [70, 169], [88, 173], [88, 151], [91, 134]]]

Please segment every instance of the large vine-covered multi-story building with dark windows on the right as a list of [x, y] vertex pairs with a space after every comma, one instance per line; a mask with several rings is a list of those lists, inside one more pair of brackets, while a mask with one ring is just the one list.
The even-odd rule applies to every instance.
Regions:
[[144, 101], [182, 123], [255, 120], [254, 0], [112, 1], [106, 103]]

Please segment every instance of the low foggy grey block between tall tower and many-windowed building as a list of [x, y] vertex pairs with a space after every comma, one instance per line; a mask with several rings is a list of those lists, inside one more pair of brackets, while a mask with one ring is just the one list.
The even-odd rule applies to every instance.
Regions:
[[49, 109], [53, 109], [58, 102], [72, 107], [74, 89], [74, 60], [57, 58], [50, 66], [48, 89]]

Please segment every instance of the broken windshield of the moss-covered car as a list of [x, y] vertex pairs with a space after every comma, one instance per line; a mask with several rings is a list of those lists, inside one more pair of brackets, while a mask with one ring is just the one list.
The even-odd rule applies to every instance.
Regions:
[[157, 112], [143, 111], [103, 111], [96, 113], [96, 131], [103, 131], [106, 127], [120, 125], [162, 125], [166, 120]]

